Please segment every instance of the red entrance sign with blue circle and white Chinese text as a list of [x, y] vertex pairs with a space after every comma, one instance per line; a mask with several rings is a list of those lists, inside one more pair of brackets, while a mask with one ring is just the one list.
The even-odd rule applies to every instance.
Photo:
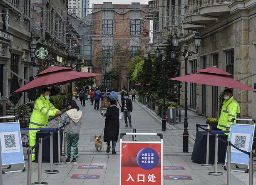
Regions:
[[161, 185], [161, 143], [122, 143], [121, 185]]

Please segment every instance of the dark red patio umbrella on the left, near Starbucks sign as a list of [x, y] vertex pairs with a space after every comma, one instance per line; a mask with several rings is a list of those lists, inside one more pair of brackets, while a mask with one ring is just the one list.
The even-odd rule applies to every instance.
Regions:
[[46, 72], [45, 74], [42, 74], [41, 72], [41, 74], [37, 74], [37, 78], [22, 86], [20, 89], [17, 89], [14, 91], [14, 93], [32, 91], [34, 89], [42, 89], [56, 85], [63, 85], [67, 84], [68, 82], [79, 81], [101, 75], [96, 73], [77, 72], [70, 69], [72, 68], [58, 70], [56, 72]]

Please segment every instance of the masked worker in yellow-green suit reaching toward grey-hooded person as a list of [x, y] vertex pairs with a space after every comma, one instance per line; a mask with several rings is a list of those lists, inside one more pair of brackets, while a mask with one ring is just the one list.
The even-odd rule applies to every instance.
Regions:
[[[49, 101], [50, 89], [42, 89], [42, 94], [34, 103], [34, 109], [30, 117], [29, 128], [45, 128], [48, 123], [49, 116], [61, 115], [61, 111]], [[36, 133], [38, 131], [29, 131], [30, 148], [35, 146]], [[35, 160], [35, 149], [32, 150], [32, 161]]]

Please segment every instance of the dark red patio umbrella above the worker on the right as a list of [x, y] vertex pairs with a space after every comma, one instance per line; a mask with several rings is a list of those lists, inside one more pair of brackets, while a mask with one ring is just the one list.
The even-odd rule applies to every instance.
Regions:
[[[211, 69], [214, 71], [211, 71]], [[177, 81], [187, 81], [196, 84], [206, 84], [211, 86], [221, 86], [228, 87], [232, 89], [241, 89], [246, 91], [256, 91], [256, 89], [252, 89], [251, 87], [227, 76], [231, 75], [227, 72], [218, 69], [217, 67], [210, 67], [206, 69], [200, 69], [195, 74], [189, 74], [185, 76], [179, 76], [176, 78], [171, 78], [169, 80], [177, 80]], [[202, 72], [204, 71], [204, 72]], [[218, 72], [218, 74], [214, 73]]]

